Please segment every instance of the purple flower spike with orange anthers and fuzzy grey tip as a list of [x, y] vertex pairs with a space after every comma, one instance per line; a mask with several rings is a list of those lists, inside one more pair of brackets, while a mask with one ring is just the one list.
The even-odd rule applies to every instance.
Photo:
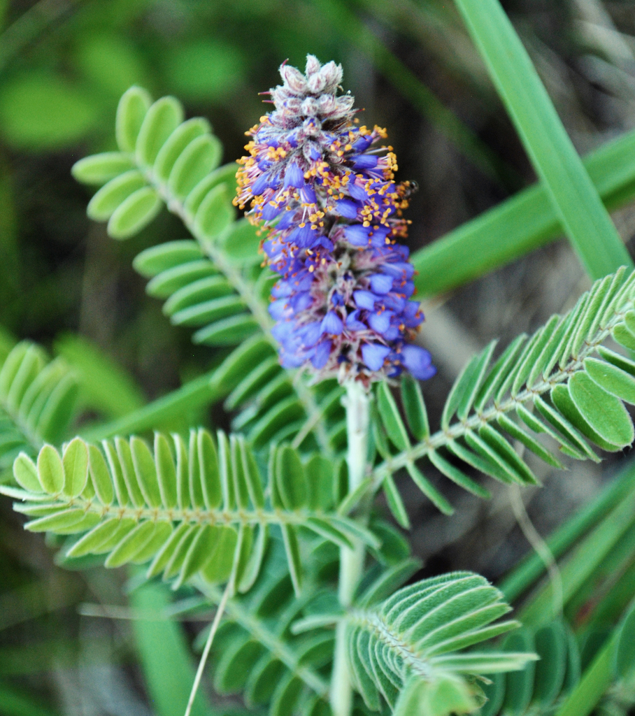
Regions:
[[415, 291], [402, 211], [416, 187], [396, 183], [397, 159], [380, 127], [354, 120], [354, 98], [337, 96], [341, 65], [283, 64], [275, 110], [247, 132], [239, 160], [240, 208], [266, 229], [266, 261], [281, 279], [269, 312], [285, 367], [368, 385], [406, 369], [435, 374], [412, 344], [424, 316]]

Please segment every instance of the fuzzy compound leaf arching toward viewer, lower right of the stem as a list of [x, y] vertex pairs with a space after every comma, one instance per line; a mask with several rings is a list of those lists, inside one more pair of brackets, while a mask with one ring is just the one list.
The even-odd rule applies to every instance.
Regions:
[[477, 574], [445, 574], [379, 601], [382, 596], [369, 589], [346, 616], [354, 682], [374, 711], [381, 708], [380, 695], [397, 714], [474, 710], [480, 690], [463, 674], [513, 671], [535, 658], [526, 652], [462, 652], [518, 626], [513, 620], [493, 623], [510, 607]]

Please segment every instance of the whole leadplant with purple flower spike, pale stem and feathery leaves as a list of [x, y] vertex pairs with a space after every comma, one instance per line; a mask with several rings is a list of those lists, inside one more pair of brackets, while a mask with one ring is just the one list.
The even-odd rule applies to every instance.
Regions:
[[[208, 122], [184, 121], [173, 97], [152, 102], [129, 89], [117, 110], [119, 151], [74, 166], [77, 179], [101, 185], [88, 213], [112, 238], [134, 236], [163, 205], [190, 231], [134, 265], [170, 321], [195, 329], [195, 343], [231, 348], [175, 398], [187, 405], [191, 389], [197, 405], [224, 400], [231, 432], [197, 425], [188, 435], [157, 431], [150, 444], [79, 423], [84, 437], [74, 436], [76, 378], [23, 342], [0, 369], [0, 469], [13, 465], [0, 491], [28, 517], [26, 529], [64, 539], [65, 563], [91, 555], [111, 568], [147, 565], [145, 579], [161, 576], [183, 595], [173, 611], [216, 607], [198, 639], [193, 695], [211, 653], [215, 688], [243, 692], [271, 716], [552, 713], [581, 679], [571, 629], [559, 618], [529, 623], [485, 644], [519, 627], [504, 618], [503, 592], [467, 571], [413, 581], [420, 562], [376, 498], [383, 490], [408, 528], [394, 480], [403, 468], [449, 515], [425, 475], [431, 466], [487, 498], [475, 471], [538, 484], [520, 446], [562, 468], [566, 458], [599, 460], [590, 443], [630, 445], [624, 402], [635, 404], [635, 362], [605, 344], [635, 350], [635, 274], [623, 266], [598, 279], [571, 311], [496, 358], [490, 343], [457, 377], [433, 432], [413, 376], [434, 369], [414, 344], [422, 314], [397, 243], [409, 188], [394, 182], [392, 154], [371, 148], [384, 131], [355, 129], [352, 97], [336, 97], [341, 67], [309, 56], [306, 75], [281, 71], [278, 115], [251, 130], [236, 202], [251, 201], [251, 219], [265, 222], [278, 276], [262, 264], [258, 230], [236, 220], [236, 165], [220, 166]], [[287, 209], [293, 221], [280, 218]], [[310, 228], [299, 233], [305, 210]], [[105, 439], [87, 439], [91, 431]], [[630, 674], [631, 624], [626, 617], [611, 641], [620, 678]]]

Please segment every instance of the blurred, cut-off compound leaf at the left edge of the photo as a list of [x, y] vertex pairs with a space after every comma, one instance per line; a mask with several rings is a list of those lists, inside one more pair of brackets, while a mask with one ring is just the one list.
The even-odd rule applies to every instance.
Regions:
[[16, 345], [0, 368], [0, 472], [20, 451], [64, 437], [74, 415], [77, 380], [62, 359], [49, 360], [37, 344]]

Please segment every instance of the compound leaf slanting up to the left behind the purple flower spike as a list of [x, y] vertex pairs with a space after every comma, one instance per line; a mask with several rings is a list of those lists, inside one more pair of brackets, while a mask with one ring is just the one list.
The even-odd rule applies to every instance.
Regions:
[[101, 185], [89, 216], [108, 221], [110, 236], [121, 239], [150, 223], [163, 203], [177, 214], [196, 241], [150, 248], [135, 268], [151, 279], [152, 296], [168, 299], [170, 321], [196, 329], [195, 343], [241, 344], [215, 379], [228, 410], [238, 411], [234, 429], [256, 445], [289, 439], [333, 457], [344, 442], [341, 390], [333, 381], [309, 387], [277, 362], [267, 311], [276, 277], [260, 265], [256, 229], [235, 221], [236, 164], [219, 166], [222, 147], [208, 122], [184, 122], [174, 97], [152, 103], [132, 87], [120, 101], [116, 135], [120, 152], [74, 165], [75, 178]]

